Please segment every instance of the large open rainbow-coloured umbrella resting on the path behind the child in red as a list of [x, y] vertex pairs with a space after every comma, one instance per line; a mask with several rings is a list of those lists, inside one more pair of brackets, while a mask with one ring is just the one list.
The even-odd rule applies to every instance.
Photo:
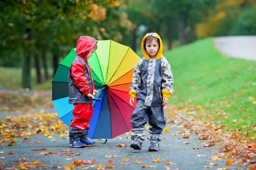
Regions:
[[[68, 104], [68, 73], [76, 56], [72, 49], [58, 65], [52, 80], [52, 103], [59, 118], [67, 125], [74, 118], [72, 104]], [[112, 139], [131, 130], [130, 119], [134, 107], [129, 105], [129, 86], [133, 70], [140, 57], [128, 46], [113, 40], [99, 40], [98, 48], [88, 59], [97, 91], [93, 101], [93, 116], [89, 122], [90, 139]], [[135, 106], [135, 105], [134, 105]]]

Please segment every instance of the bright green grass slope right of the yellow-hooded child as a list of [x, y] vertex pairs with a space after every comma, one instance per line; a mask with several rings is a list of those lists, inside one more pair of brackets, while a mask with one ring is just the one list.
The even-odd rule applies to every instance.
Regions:
[[[225, 57], [213, 41], [207, 38], [164, 53], [174, 77], [169, 103], [201, 105], [219, 124], [245, 132], [256, 124], [256, 62]], [[227, 114], [214, 112], [220, 110]]]

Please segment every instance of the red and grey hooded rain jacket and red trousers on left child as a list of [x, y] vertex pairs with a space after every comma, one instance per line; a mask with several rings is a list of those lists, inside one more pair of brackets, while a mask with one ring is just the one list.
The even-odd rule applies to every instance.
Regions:
[[70, 67], [69, 103], [74, 105], [72, 113], [75, 116], [71, 119], [70, 127], [80, 130], [89, 128], [89, 122], [93, 114], [92, 101], [88, 101], [87, 94], [92, 94], [95, 88], [86, 56], [96, 43], [97, 41], [92, 37], [80, 37], [76, 45], [76, 57]]

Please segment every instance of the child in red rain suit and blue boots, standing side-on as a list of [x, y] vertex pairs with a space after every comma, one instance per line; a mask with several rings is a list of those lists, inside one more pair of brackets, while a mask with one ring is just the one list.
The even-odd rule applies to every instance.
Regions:
[[69, 71], [69, 99], [74, 105], [70, 123], [69, 147], [94, 146], [95, 142], [87, 139], [89, 121], [93, 114], [91, 98], [99, 94], [93, 85], [92, 71], [88, 59], [97, 48], [97, 40], [92, 37], [80, 37], [76, 45], [76, 57]]

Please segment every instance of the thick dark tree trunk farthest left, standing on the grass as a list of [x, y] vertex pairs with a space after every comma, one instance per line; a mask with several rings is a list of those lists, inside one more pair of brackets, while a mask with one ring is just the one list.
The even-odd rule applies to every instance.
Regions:
[[31, 89], [31, 57], [30, 54], [26, 54], [23, 57], [22, 62], [22, 88]]

